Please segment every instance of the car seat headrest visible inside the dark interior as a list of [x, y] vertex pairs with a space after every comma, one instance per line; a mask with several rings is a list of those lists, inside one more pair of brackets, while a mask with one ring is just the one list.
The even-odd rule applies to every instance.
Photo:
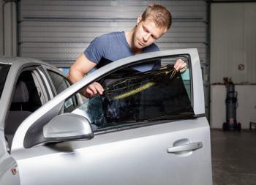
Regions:
[[29, 91], [26, 87], [26, 83], [23, 81], [18, 81], [15, 88], [15, 93], [12, 102], [24, 103], [29, 101]]

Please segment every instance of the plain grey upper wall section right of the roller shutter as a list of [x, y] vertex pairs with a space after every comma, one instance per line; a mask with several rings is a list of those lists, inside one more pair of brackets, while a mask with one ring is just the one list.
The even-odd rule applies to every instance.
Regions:
[[211, 4], [211, 83], [256, 83], [255, 20], [256, 2]]

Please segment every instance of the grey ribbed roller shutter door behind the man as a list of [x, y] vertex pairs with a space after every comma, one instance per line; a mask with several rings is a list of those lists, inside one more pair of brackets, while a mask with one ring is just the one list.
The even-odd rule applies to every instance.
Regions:
[[[159, 48], [198, 48], [206, 64], [205, 1], [154, 1], [173, 13]], [[20, 56], [70, 65], [95, 37], [129, 31], [150, 1], [20, 1]]]

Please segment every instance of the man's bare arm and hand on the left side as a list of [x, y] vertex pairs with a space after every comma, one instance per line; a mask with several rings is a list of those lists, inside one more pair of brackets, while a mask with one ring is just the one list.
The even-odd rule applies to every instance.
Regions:
[[[82, 53], [75, 63], [70, 67], [69, 74], [67, 78], [69, 79], [70, 83], [76, 83], [78, 80], [82, 79], [84, 75], [93, 69], [97, 64], [90, 61], [86, 56]], [[82, 89], [81, 93], [87, 97], [93, 97], [95, 94], [102, 94], [104, 89], [102, 86], [97, 83], [91, 83], [89, 86], [86, 86]]]

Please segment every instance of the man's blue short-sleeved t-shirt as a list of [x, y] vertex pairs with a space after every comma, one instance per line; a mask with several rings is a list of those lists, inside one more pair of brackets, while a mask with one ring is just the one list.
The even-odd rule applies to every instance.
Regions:
[[[146, 48], [143, 48], [141, 53], [158, 50], [159, 48], [157, 45], [153, 43]], [[86, 48], [84, 54], [90, 61], [97, 63], [97, 68], [105, 66], [105, 64], [112, 61], [134, 55], [132, 49], [129, 47], [124, 31], [112, 32], [95, 38], [89, 47]], [[158, 63], [140, 64], [133, 67], [133, 69], [144, 72], [158, 67]]]

